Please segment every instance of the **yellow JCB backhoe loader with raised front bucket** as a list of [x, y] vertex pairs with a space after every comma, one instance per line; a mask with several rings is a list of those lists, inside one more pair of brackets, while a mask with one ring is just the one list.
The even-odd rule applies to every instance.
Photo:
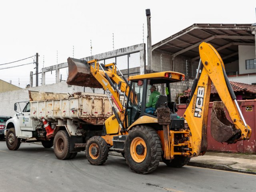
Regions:
[[[171, 100], [172, 83], [184, 80], [184, 74], [156, 72], [126, 80], [115, 63], [103, 65], [98, 60], [68, 58], [67, 83], [103, 88], [114, 113], [105, 121], [102, 134], [86, 142], [88, 161], [101, 165], [109, 151], [116, 151], [123, 154], [131, 170], [145, 174], [154, 171], [161, 160], [167, 166], [182, 167], [191, 157], [204, 155], [211, 83], [223, 102], [213, 106], [212, 136], [229, 144], [248, 140], [251, 128], [238, 107], [221, 57], [205, 42], [200, 44], [199, 53], [198, 69], [203, 64], [202, 73], [199, 78], [198, 70], [184, 117], [176, 114], [176, 104]], [[149, 114], [146, 103], [153, 85], [161, 95], [156, 111]], [[232, 122], [226, 119], [225, 107]]]

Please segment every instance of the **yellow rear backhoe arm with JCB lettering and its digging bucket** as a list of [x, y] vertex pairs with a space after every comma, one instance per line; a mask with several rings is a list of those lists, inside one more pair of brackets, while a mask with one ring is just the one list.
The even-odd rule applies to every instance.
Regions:
[[246, 125], [240, 112], [220, 55], [210, 44], [205, 42], [200, 44], [199, 53], [204, 67], [184, 113], [192, 135], [190, 139], [193, 156], [204, 154], [207, 149], [207, 120], [211, 83], [214, 84], [232, 120], [229, 122], [224, 117], [224, 106], [220, 105], [218, 109], [216, 107], [216, 110], [213, 106], [212, 117], [222, 117], [224, 120], [224, 122], [218, 122], [215, 118], [215, 122], [211, 123], [211, 129], [214, 127], [214, 131], [212, 131], [214, 139], [219, 142], [235, 143], [239, 140], [248, 140], [251, 135], [251, 128]]

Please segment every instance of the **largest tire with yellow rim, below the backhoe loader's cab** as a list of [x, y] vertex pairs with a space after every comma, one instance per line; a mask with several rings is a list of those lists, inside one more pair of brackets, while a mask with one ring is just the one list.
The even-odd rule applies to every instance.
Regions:
[[124, 142], [124, 156], [130, 169], [146, 174], [159, 165], [162, 154], [161, 142], [156, 131], [149, 126], [136, 126]]

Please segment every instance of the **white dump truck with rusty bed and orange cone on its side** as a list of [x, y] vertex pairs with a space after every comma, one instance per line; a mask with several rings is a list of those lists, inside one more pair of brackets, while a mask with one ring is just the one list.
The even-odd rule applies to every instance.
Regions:
[[45, 148], [54, 145], [58, 159], [74, 158], [85, 150], [88, 138], [101, 135], [102, 126], [112, 116], [106, 95], [76, 92], [54, 94], [29, 91], [29, 102], [14, 104], [16, 114], [6, 122], [6, 145], [18, 150], [22, 142], [41, 142]]

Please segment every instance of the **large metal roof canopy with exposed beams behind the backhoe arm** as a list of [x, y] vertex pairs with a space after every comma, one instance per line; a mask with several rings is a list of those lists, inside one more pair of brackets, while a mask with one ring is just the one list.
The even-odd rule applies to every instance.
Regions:
[[208, 42], [219, 52], [224, 63], [238, 60], [238, 45], [255, 45], [252, 24], [193, 24], [188, 28], [154, 44], [153, 50], [200, 59], [198, 46]]

